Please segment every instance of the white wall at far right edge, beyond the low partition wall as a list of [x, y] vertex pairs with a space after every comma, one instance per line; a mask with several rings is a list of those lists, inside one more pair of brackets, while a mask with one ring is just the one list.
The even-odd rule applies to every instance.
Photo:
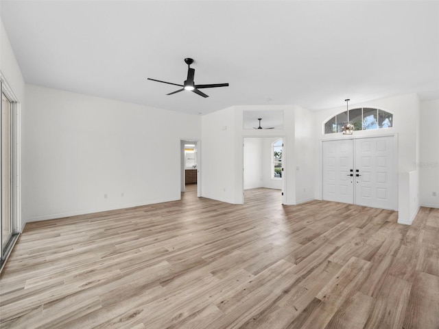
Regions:
[[[420, 105], [420, 204], [439, 208], [439, 100]], [[436, 196], [434, 196], [436, 192]]]

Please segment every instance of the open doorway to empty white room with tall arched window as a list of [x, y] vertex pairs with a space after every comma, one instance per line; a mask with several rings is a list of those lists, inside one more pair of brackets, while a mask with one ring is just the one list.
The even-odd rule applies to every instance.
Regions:
[[282, 203], [283, 193], [283, 138], [244, 138], [244, 203], [246, 195], [264, 191], [278, 192]]

